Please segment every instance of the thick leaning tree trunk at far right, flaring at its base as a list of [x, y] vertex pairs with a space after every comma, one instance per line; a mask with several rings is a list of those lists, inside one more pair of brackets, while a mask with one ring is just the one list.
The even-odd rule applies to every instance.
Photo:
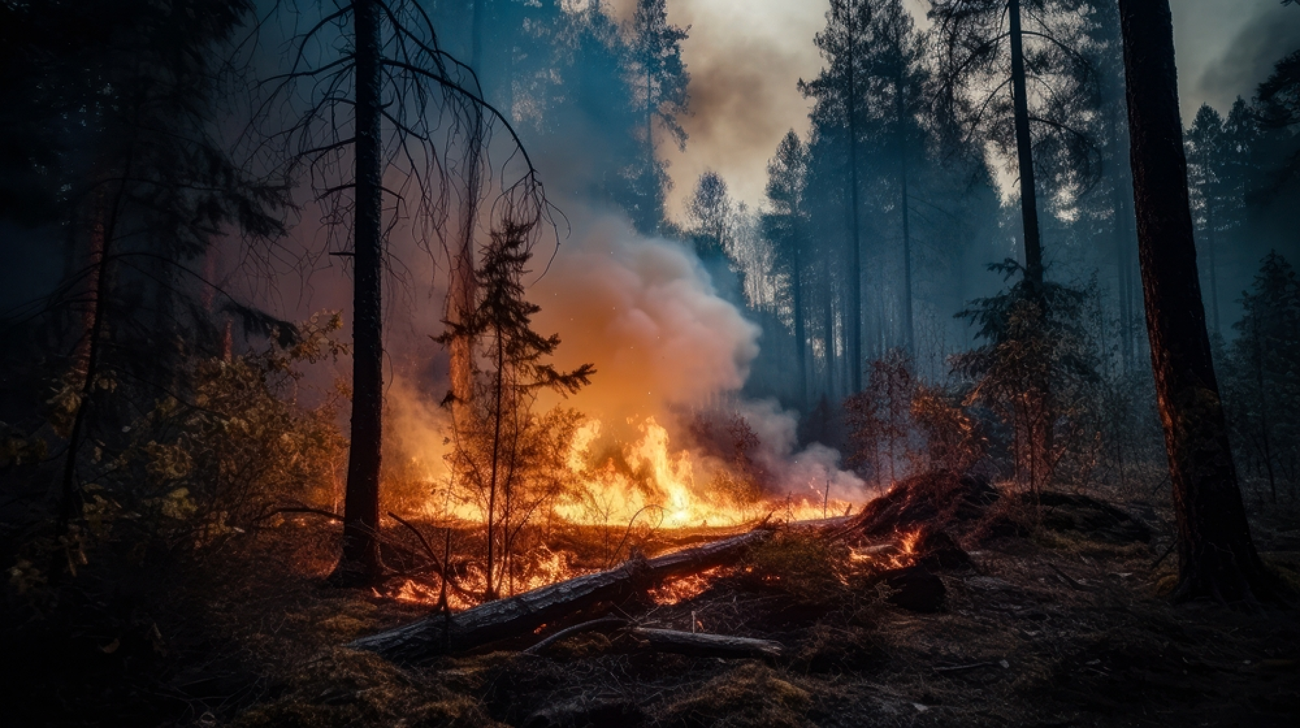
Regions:
[[1147, 333], [1178, 521], [1174, 598], [1274, 598], [1282, 585], [1251, 540], [1205, 330], [1169, 1], [1119, 0], [1119, 14]]

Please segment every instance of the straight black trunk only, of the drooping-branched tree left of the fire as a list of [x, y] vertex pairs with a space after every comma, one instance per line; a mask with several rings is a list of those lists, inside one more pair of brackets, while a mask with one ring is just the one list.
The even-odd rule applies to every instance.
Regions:
[[380, 160], [380, 12], [374, 0], [352, 1], [356, 73], [355, 196], [352, 216], [352, 422], [343, 498], [343, 555], [330, 575], [341, 586], [381, 576], [380, 448], [384, 434], [384, 268]]

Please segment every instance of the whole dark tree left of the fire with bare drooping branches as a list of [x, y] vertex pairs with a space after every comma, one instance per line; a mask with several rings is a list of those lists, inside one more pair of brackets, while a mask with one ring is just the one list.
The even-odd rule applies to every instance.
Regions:
[[[298, 13], [295, 20], [313, 25], [295, 38], [292, 65], [270, 79], [257, 118], [278, 124], [277, 112], [286, 104], [298, 114], [295, 124], [276, 130], [270, 139], [289, 152], [290, 169], [306, 172], [325, 200], [332, 237], [351, 233], [352, 251], [343, 254], [354, 261], [351, 447], [343, 552], [330, 580], [367, 585], [384, 573], [376, 534], [387, 228], [403, 216], [416, 218], [425, 248], [434, 254], [434, 243], [441, 243], [441, 252], [462, 263], [458, 273], [463, 276], [464, 256], [445, 250], [451, 192], [456, 182], [465, 183], [462, 214], [467, 226], [458, 230], [456, 240], [456, 254], [463, 254], [478, 214], [480, 166], [490, 164], [486, 150], [493, 126], [503, 127], [519, 152], [499, 170], [493, 213], [532, 231], [546, 218], [547, 207], [532, 160], [508, 120], [484, 99], [473, 69], [441, 48], [433, 21], [419, 3], [352, 0], [321, 9], [318, 18]], [[309, 98], [306, 110], [294, 107], [294, 92], [303, 87]], [[454, 148], [464, 150], [464, 157], [451, 155]], [[510, 174], [506, 166], [516, 159], [523, 170]], [[396, 188], [384, 186], [389, 172], [400, 179]], [[385, 195], [394, 200], [389, 207]]]

